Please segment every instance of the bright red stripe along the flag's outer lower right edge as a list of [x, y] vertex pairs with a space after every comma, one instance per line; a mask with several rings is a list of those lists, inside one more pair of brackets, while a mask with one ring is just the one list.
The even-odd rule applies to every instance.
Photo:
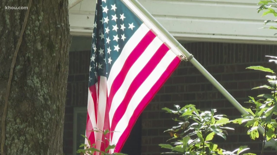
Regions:
[[180, 63], [180, 59], [176, 57], [166, 68], [165, 72], [162, 74], [162, 76], [159, 78], [159, 80], [153, 85], [153, 87], [150, 89], [150, 91], [147, 93], [147, 95], [140, 101], [139, 105], [135, 109], [133, 115], [131, 116], [129, 123], [127, 125], [127, 128], [124, 130], [122, 135], [120, 136], [117, 145], [115, 147], [115, 153], [118, 153], [121, 151], [125, 141], [130, 135], [130, 132], [137, 121], [138, 117], [142, 113], [142, 111], [145, 109], [145, 107], [148, 105], [148, 103], [153, 99], [155, 94], [160, 90], [160, 88], [163, 86], [163, 84], [166, 82], [166, 80], [171, 76], [173, 71], [178, 67]]

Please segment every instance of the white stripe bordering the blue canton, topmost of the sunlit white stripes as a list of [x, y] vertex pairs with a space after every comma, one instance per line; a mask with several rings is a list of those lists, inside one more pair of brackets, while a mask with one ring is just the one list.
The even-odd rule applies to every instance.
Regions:
[[116, 76], [119, 74], [121, 68], [123, 67], [126, 59], [130, 55], [130, 53], [135, 49], [137, 44], [141, 41], [141, 39], [145, 36], [145, 34], [149, 31], [150, 29], [147, 28], [143, 23], [140, 25], [140, 27], [135, 31], [133, 36], [129, 39], [129, 41], [125, 44], [125, 46], [122, 49], [121, 54], [117, 58], [116, 62], [114, 65], [112, 65], [109, 78], [107, 81], [107, 89], [108, 89], [108, 96], [110, 94], [112, 82], [116, 78]]

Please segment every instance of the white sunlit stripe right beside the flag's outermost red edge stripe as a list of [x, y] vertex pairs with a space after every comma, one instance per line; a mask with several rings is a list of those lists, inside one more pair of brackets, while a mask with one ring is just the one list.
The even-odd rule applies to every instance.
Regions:
[[[134, 96], [130, 100], [126, 112], [123, 117], [120, 119], [118, 124], [116, 125], [115, 131], [111, 144], [116, 144], [119, 140], [120, 136], [126, 129], [131, 116], [133, 115], [135, 108], [139, 105], [140, 101], [145, 97], [145, 95], [149, 92], [149, 90], [153, 87], [153, 85], [158, 81], [160, 76], [165, 72], [166, 68], [170, 65], [176, 55], [169, 50], [166, 55], [162, 58], [162, 60], [158, 63], [156, 68], [152, 71], [152, 73], [147, 77], [147, 79], [140, 85], [139, 89], [135, 92]], [[146, 104], [146, 103], [145, 103]]]

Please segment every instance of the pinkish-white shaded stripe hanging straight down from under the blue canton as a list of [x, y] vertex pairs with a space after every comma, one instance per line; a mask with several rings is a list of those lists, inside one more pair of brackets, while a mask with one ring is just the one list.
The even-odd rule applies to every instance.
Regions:
[[[104, 129], [106, 103], [107, 103], [107, 78], [104, 76], [100, 76], [96, 127], [101, 131]], [[96, 138], [95, 138], [96, 149], [100, 150], [102, 133], [94, 132], [94, 134], [96, 134]], [[96, 155], [99, 155], [99, 152], [96, 152]]]

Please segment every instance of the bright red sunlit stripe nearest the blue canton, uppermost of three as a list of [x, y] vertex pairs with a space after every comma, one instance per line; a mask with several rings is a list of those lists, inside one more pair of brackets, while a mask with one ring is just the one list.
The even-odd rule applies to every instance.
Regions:
[[110, 94], [109, 94], [109, 103], [112, 103], [112, 99], [114, 98], [115, 93], [122, 85], [132, 65], [136, 62], [136, 60], [140, 57], [140, 55], [144, 52], [144, 50], [153, 41], [155, 37], [156, 36], [152, 31], [148, 31], [148, 33], [143, 37], [143, 39], [139, 42], [139, 44], [128, 56], [121, 71], [119, 72], [119, 74], [116, 76], [116, 78], [112, 83]]

